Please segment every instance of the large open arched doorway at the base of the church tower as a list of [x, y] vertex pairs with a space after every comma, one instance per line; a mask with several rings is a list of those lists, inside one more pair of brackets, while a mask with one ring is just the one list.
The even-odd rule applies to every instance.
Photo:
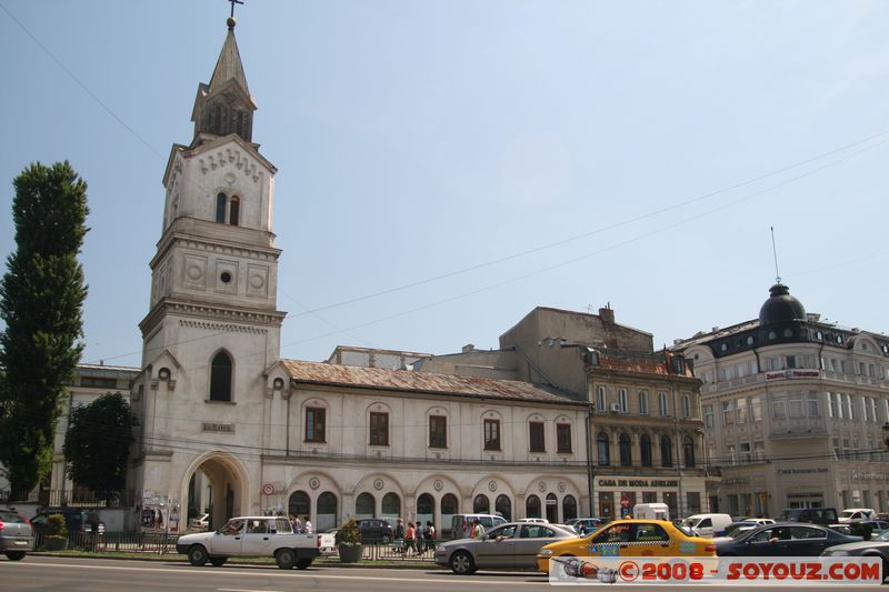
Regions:
[[246, 478], [240, 466], [228, 456], [210, 455], [188, 478], [188, 521], [181, 531], [191, 528], [192, 519], [208, 514], [208, 530], [214, 530], [244, 510]]

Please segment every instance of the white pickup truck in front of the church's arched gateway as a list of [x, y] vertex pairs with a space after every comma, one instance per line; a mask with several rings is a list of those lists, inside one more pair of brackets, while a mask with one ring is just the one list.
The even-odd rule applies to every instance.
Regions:
[[216, 532], [180, 536], [176, 551], [196, 566], [208, 561], [219, 566], [232, 556], [273, 556], [282, 570], [304, 570], [314, 558], [336, 554], [332, 534], [296, 533], [284, 516], [232, 518]]

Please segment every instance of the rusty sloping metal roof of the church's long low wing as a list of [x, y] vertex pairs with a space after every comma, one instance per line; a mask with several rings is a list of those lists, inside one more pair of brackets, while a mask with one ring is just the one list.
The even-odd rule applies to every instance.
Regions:
[[406, 393], [448, 394], [478, 397], [536, 403], [585, 404], [570, 398], [567, 392], [540, 384], [517, 380], [496, 380], [455, 374], [436, 374], [410, 370], [388, 370], [281, 360], [290, 378], [299, 383], [356, 389], [382, 389]]

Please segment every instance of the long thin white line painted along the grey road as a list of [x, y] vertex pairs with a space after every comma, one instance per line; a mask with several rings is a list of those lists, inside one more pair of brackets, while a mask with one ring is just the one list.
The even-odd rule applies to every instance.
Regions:
[[[161, 573], [182, 573], [184, 569], [188, 569], [191, 572], [199, 572], [202, 574], [210, 574], [210, 575], [221, 575], [224, 578], [230, 578], [231, 572], [226, 570], [224, 568], [136, 568], [136, 566], [126, 566], [126, 565], [84, 565], [78, 563], [34, 563], [34, 562], [16, 562], [16, 566], [19, 569], [22, 568], [72, 568], [76, 570], [110, 570], [110, 571], [152, 571], [152, 572], [161, 572]], [[470, 584], [470, 585], [502, 585], [505, 583], [503, 580], [470, 580], [470, 579], [460, 579], [459, 582], [457, 580], [450, 578], [436, 578], [434, 575], [428, 575], [423, 572], [422, 578], [404, 578], [399, 575], [398, 578], [391, 576], [379, 576], [379, 575], [371, 575], [368, 572], [377, 571], [379, 568], [373, 568], [369, 570], [361, 570], [362, 575], [338, 575], [333, 573], [323, 573], [322, 571], [283, 571], [283, 570], [264, 570], [262, 572], [263, 578], [322, 578], [328, 580], [373, 580], [377, 582], [416, 582], [416, 583], [449, 583], [449, 584], [457, 584], [459, 583], [460, 586]], [[403, 571], [412, 571], [412, 570], [403, 570]], [[538, 576], [537, 582], [528, 582], [523, 580], [509, 580], [508, 583], [511, 585], [540, 585], [549, 583], [548, 580], [545, 579], [542, 573], [536, 572], [528, 572], [528, 576]], [[218, 589], [218, 590], [236, 590], [236, 589]], [[248, 592], [241, 591], [241, 589], [237, 589], [237, 592]], [[273, 592], [269, 590], [262, 591], [249, 591], [249, 592]]]

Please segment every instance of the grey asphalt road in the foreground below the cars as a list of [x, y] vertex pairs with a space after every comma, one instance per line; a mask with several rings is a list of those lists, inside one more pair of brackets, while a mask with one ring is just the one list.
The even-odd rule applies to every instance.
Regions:
[[[610, 584], [593, 583], [593, 589]], [[617, 584], [621, 591], [650, 592], [650, 585]], [[755, 584], [758, 589], [780, 589]], [[663, 590], [690, 591], [706, 583], [671, 585]], [[0, 588], [9, 591], [66, 592], [289, 592], [289, 591], [368, 591], [423, 592], [515, 592], [550, 589], [546, 575], [532, 572], [479, 572], [471, 576], [439, 570], [319, 566], [304, 571], [282, 571], [273, 565], [226, 565], [192, 568], [181, 562], [74, 559], [29, 555], [23, 561], [0, 559]], [[586, 586], [585, 586], [586, 588]], [[745, 586], [748, 588], [748, 586]], [[809, 586], [811, 588], [811, 586]], [[826, 586], [828, 592], [862, 590], [861, 586]]]

